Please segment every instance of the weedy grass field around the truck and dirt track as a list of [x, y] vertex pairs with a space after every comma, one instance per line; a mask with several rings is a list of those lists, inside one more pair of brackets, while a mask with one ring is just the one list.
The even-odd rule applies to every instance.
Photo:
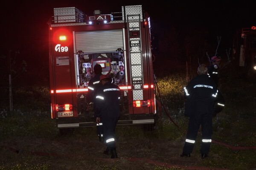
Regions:
[[[137, 126], [122, 126], [116, 128], [120, 140], [161, 140], [181, 142], [186, 136], [188, 118], [183, 115], [185, 97], [183, 87], [187, 82], [180, 74], [168, 77], [157, 78], [157, 85], [160, 90], [162, 101], [172, 119], [181, 127], [178, 129], [164, 113], [162, 116], [157, 113], [157, 123], [153, 131], [144, 132]], [[197, 166], [220, 167], [230, 170], [253, 170], [256, 169], [256, 86], [243, 77], [236, 74], [222, 74], [220, 77], [220, 90], [226, 99], [226, 105], [221, 113], [213, 118], [212, 139], [222, 144], [212, 143], [210, 155], [212, 158], [205, 159]], [[93, 138], [95, 129], [80, 128], [73, 136], [60, 136], [55, 127], [55, 120], [50, 118], [49, 111], [49, 88], [48, 87], [24, 87], [19, 88], [13, 94], [15, 98], [14, 111], [9, 112], [4, 106], [0, 108], [0, 145], [4, 139], [29, 136], [31, 138], [67, 139], [79, 141], [81, 136]], [[159, 94], [157, 99], [160, 101]], [[20, 101], [20, 102], [17, 102]], [[134, 128], [131, 130], [131, 128]], [[200, 143], [198, 135], [197, 143]], [[234, 150], [227, 147], [248, 149]], [[195, 145], [194, 152], [199, 153], [200, 144]], [[150, 150], [150, 149], [149, 149]], [[0, 148], [1, 153], [7, 152]], [[179, 154], [179, 153], [177, 153]], [[160, 155], [159, 155], [160, 156]], [[145, 156], [146, 157], [146, 156]], [[0, 170], [49, 170], [53, 164], [47, 163], [44, 159], [32, 161], [27, 158], [13, 161], [6, 161], [5, 156], [0, 156]], [[127, 165], [125, 165], [127, 166]], [[122, 170], [123, 164], [97, 165], [102, 170]], [[76, 169], [76, 168], [75, 168]], [[79, 168], [77, 168], [79, 169]], [[93, 169], [93, 167], [91, 168]], [[152, 170], [178, 170], [178, 167], [153, 166]]]

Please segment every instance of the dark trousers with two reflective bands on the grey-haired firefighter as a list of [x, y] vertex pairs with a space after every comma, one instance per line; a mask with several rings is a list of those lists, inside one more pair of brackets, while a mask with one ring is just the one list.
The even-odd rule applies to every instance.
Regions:
[[208, 154], [212, 142], [212, 113], [194, 114], [189, 117], [189, 126], [186, 142], [183, 147], [184, 153], [192, 153], [199, 127], [202, 130], [201, 153]]

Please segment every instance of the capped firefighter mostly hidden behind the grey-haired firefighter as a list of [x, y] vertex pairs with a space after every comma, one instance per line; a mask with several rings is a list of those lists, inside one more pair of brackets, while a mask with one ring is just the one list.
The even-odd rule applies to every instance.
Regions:
[[[217, 87], [218, 87], [218, 69], [221, 68], [220, 62], [221, 62], [221, 58], [214, 56], [211, 58], [211, 65], [209, 65], [208, 67], [208, 75], [215, 81]], [[214, 116], [216, 116], [217, 113], [222, 111], [222, 109], [224, 108], [224, 105], [225, 105], [225, 99], [222, 96], [221, 92], [218, 91], [218, 97], [214, 104], [214, 111], [213, 111]]]

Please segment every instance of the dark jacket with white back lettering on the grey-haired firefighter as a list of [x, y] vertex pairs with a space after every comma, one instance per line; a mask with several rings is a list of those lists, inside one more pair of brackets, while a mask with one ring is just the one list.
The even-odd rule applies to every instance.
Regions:
[[202, 112], [213, 113], [217, 93], [216, 83], [207, 75], [202, 74], [192, 79], [184, 88], [187, 98], [185, 116], [202, 114]]

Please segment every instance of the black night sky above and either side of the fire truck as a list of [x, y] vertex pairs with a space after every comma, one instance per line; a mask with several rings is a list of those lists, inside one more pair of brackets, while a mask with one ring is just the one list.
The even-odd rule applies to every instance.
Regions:
[[[152, 34], [157, 41], [154, 43], [157, 45], [164, 43], [167, 47], [176, 42], [163, 40], [163, 37], [172, 39], [172, 35], [178, 34], [176, 41], [182, 41], [187, 34], [194, 31], [193, 34], [204, 34], [207, 43], [213, 45], [217, 43], [216, 37], [221, 36], [221, 54], [224, 49], [232, 48], [236, 29], [250, 28], [256, 24], [256, 2], [244, 0], [222, 1], [221, 3], [218, 1], [201, 1], [200, 3], [196, 1], [195, 3], [182, 0], [169, 0], [168, 2], [166, 0], [136, 0], [136, 3], [123, 0], [2, 0], [0, 2], [0, 56], [7, 56], [9, 50], [19, 50], [18, 58], [26, 60], [28, 64], [26, 74], [30, 73], [30, 78], [40, 77], [41, 81], [47, 81], [47, 21], [53, 15], [53, 8], [74, 6], [84, 11], [85, 14], [92, 15], [95, 9], [100, 9], [102, 14], [119, 12], [123, 5], [143, 5], [145, 11], [148, 11], [151, 16]], [[161, 40], [164, 42], [158, 43]]]

